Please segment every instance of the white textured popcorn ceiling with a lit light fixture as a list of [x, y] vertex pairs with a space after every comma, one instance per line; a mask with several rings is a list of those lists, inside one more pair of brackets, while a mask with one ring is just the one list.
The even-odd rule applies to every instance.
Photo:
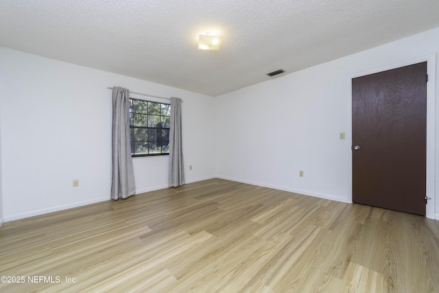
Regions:
[[434, 27], [438, 0], [0, 1], [0, 46], [213, 96]]

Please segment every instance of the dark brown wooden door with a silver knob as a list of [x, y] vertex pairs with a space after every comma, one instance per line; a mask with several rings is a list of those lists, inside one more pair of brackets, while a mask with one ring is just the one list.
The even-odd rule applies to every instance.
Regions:
[[425, 215], [427, 62], [352, 80], [353, 202]]

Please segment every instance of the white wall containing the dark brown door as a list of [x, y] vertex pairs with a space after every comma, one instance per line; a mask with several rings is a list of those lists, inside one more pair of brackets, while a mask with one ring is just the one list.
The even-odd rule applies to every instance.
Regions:
[[[437, 52], [439, 27], [216, 97], [217, 176], [351, 202], [351, 78], [429, 59], [427, 181], [433, 201], [427, 216], [439, 218], [439, 200], [436, 209], [434, 204], [439, 187]], [[339, 139], [340, 132], [346, 132], [346, 140]]]

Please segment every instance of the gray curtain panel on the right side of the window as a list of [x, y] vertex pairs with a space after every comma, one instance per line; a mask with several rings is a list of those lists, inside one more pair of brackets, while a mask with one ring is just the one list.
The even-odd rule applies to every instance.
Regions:
[[169, 129], [169, 187], [185, 184], [181, 139], [181, 99], [171, 97], [171, 126]]

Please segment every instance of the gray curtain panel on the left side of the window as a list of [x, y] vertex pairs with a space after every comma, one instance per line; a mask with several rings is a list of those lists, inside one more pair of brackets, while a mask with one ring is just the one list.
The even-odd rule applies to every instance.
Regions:
[[112, 180], [111, 198], [128, 198], [136, 191], [130, 143], [130, 91], [112, 88]]

